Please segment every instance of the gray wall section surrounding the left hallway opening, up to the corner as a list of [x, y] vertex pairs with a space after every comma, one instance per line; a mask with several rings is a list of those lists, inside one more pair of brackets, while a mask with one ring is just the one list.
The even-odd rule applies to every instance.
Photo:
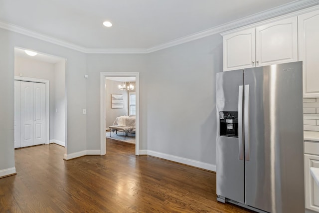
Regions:
[[[66, 58], [65, 85], [67, 96], [67, 153], [86, 150], [86, 54], [56, 44], [0, 29], [0, 170], [14, 167], [13, 104], [14, 47]], [[18, 172], [18, 171], [17, 171]]]

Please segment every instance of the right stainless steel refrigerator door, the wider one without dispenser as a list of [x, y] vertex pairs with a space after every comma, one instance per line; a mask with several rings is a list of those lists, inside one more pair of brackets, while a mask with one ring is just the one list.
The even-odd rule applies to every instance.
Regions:
[[305, 212], [302, 62], [245, 69], [244, 79], [245, 203]]

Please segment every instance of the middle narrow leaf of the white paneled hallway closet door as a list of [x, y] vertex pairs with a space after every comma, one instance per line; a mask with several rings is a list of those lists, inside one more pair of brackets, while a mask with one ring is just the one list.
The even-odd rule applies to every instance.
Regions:
[[33, 82], [21, 81], [21, 147], [34, 144]]

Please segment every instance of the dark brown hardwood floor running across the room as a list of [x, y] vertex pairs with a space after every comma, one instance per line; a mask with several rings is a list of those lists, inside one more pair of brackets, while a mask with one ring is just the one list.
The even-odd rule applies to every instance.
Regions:
[[135, 146], [107, 140], [106, 156], [64, 161], [55, 144], [15, 150], [17, 175], [0, 179], [6, 213], [251, 213], [216, 201], [216, 174], [135, 156]]

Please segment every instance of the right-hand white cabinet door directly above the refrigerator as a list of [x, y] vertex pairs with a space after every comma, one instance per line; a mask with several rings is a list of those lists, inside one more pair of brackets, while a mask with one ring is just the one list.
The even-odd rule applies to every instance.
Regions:
[[297, 17], [256, 27], [256, 66], [298, 61]]

